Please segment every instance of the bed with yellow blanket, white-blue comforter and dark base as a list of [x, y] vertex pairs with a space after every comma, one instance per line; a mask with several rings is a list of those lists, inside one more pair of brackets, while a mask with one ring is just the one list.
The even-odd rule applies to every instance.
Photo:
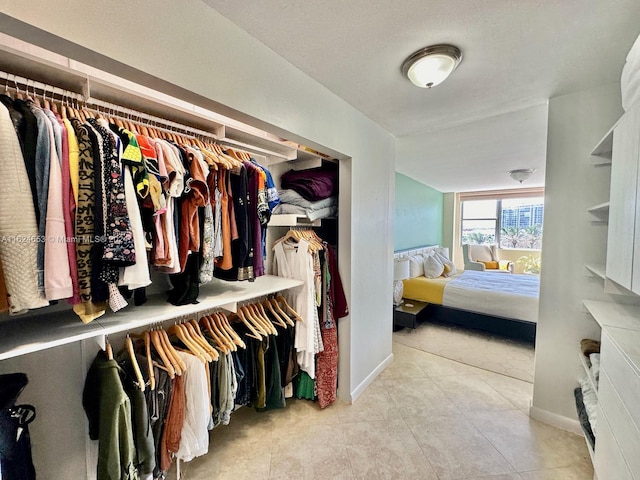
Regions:
[[[396, 252], [394, 258], [428, 255], [437, 246]], [[419, 257], [418, 257], [419, 258]], [[414, 272], [415, 274], [415, 272]], [[452, 323], [533, 342], [538, 318], [537, 275], [462, 271], [449, 277], [403, 280], [404, 298], [429, 304], [422, 319]]]

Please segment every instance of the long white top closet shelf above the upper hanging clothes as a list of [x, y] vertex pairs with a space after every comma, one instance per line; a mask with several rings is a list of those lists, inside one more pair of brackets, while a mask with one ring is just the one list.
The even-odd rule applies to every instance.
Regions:
[[[80, 103], [86, 103], [89, 107], [93, 105], [105, 107], [105, 103], [111, 103], [157, 117], [171, 118], [171, 123], [179, 123], [204, 131], [222, 143], [264, 156], [266, 160], [259, 159], [259, 161], [263, 160], [267, 164], [296, 159], [329, 158], [295, 142], [186, 100], [193, 98], [192, 94], [177, 92], [176, 95], [168, 95], [28, 44], [2, 32], [0, 32], [0, 52], [2, 52], [0, 70], [14, 75], [25, 75], [35, 80], [32, 83], [33, 88], [40, 90], [42, 87], [38, 82], [54, 85], [57, 87], [56, 96], [62, 97], [68, 92], [76, 94], [80, 98]], [[35, 78], [34, 72], [38, 72]], [[6, 79], [6, 77], [2, 78]], [[8, 80], [10, 83], [10, 79]], [[167, 85], [166, 87], [175, 89], [175, 86]]]

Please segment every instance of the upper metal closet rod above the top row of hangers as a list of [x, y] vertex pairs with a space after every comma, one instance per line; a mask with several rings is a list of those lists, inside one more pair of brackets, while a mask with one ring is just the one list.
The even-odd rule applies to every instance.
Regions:
[[[79, 108], [87, 108], [94, 112], [100, 112], [110, 116], [117, 116], [123, 120], [132, 121], [140, 124], [146, 124], [147, 126], [153, 126], [155, 128], [162, 129], [169, 133], [177, 133], [180, 135], [190, 135], [198, 138], [210, 138], [215, 141], [220, 139], [213, 133], [206, 130], [200, 130], [198, 128], [183, 125], [181, 123], [167, 120], [166, 118], [157, 117], [148, 113], [140, 112], [131, 108], [123, 107], [115, 103], [105, 102], [97, 98], [86, 98], [84, 95], [70, 90], [65, 90], [55, 85], [49, 85], [44, 82], [32, 80], [30, 78], [14, 75], [0, 70], [0, 78], [5, 81], [5, 90], [13, 88], [17, 91], [21, 91], [19, 86], [23, 87], [24, 93], [27, 95], [34, 94], [42, 98], [55, 101], [57, 96], [59, 101], [64, 103], [66, 100], [74, 100], [78, 103]], [[37, 92], [36, 90], [39, 90]], [[91, 105], [91, 108], [89, 107]]]

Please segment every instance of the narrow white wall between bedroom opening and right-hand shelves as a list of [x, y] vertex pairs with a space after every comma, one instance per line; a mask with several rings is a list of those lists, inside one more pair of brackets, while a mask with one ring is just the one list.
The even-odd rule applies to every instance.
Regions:
[[[571, 428], [580, 340], [599, 338], [585, 298], [612, 300], [584, 265], [604, 264], [606, 225], [587, 208], [609, 198], [610, 167], [590, 165], [590, 152], [622, 114], [618, 84], [549, 101], [540, 315], [531, 414]], [[574, 424], [575, 426], [575, 424]]]

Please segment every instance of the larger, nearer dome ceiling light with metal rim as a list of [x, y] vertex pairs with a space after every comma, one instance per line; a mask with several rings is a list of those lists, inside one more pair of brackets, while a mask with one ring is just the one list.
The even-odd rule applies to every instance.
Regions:
[[402, 64], [402, 74], [420, 88], [431, 88], [444, 82], [462, 61], [462, 52], [453, 45], [425, 47]]

